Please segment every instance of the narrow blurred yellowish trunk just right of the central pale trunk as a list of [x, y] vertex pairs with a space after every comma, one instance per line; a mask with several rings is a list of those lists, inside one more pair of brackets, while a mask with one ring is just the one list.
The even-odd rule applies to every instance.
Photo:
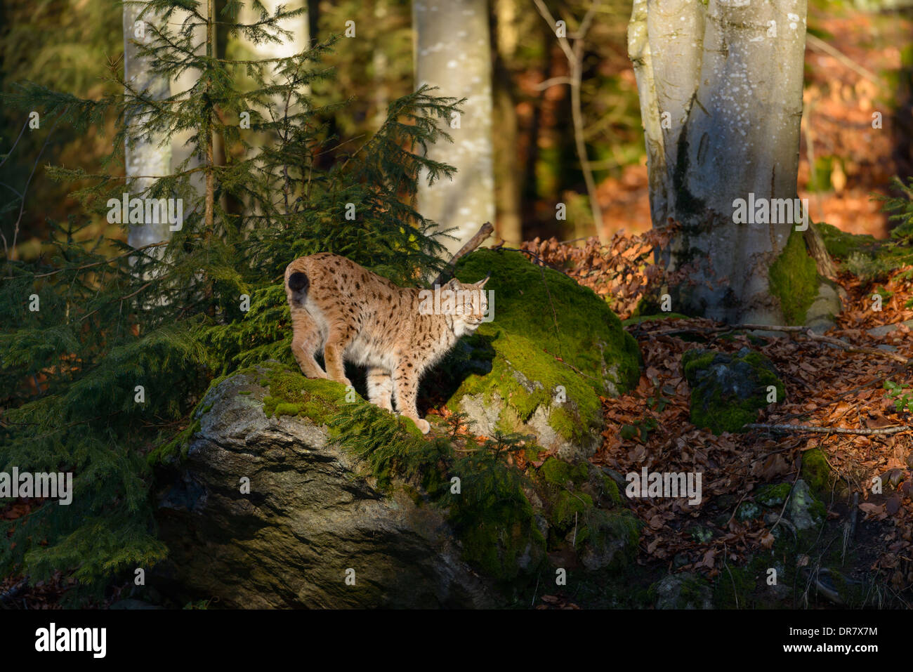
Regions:
[[508, 63], [517, 50], [517, 1], [496, 0], [498, 52], [495, 60], [495, 135], [497, 164], [498, 226], [495, 232], [509, 245], [519, 245], [523, 240], [523, 223], [520, 217], [519, 162], [517, 160], [517, 101]]

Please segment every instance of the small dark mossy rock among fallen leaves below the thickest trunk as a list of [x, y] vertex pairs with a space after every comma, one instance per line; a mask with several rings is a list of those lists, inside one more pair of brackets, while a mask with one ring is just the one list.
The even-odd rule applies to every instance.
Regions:
[[773, 363], [747, 347], [734, 355], [689, 350], [682, 355], [682, 370], [691, 386], [691, 422], [717, 435], [740, 432], [754, 422], [770, 403], [771, 391], [776, 401], [785, 394]]

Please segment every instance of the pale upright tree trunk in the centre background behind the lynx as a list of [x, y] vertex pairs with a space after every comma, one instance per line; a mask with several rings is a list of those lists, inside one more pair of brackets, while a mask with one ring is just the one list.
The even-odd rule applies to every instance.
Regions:
[[491, 47], [487, 0], [413, 0], [415, 83], [438, 87], [436, 95], [466, 98], [459, 128], [447, 131], [454, 143], [439, 142], [428, 157], [456, 166], [453, 180], [429, 187], [423, 179], [418, 211], [440, 230], [441, 242], [456, 252], [495, 218], [491, 151]]

